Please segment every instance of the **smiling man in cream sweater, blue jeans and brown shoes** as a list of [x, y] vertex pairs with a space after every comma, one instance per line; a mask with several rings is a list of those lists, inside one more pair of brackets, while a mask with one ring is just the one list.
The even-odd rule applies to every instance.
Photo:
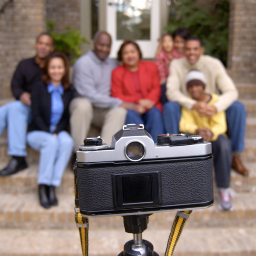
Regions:
[[[195, 109], [200, 116], [212, 117], [221, 111], [226, 112], [228, 136], [232, 142], [232, 167], [242, 175], [248, 170], [242, 165], [239, 153], [244, 151], [246, 112], [242, 103], [237, 102], [238, 91], [228, 76], [223, 64], [214, 57], [203, 55], [204, 48], [200, 39], [191, 36], [185, 45], [185, 58], [173, 60], [166, 85], [169, 100], [164, 105], [164, 124], [167, 133], [179, 133], [181, 107]], [[213, 105], [188, 98], [185, 77], [191, 70], [201, 71], [206, 77], [205, 92], [219, 94]]]

